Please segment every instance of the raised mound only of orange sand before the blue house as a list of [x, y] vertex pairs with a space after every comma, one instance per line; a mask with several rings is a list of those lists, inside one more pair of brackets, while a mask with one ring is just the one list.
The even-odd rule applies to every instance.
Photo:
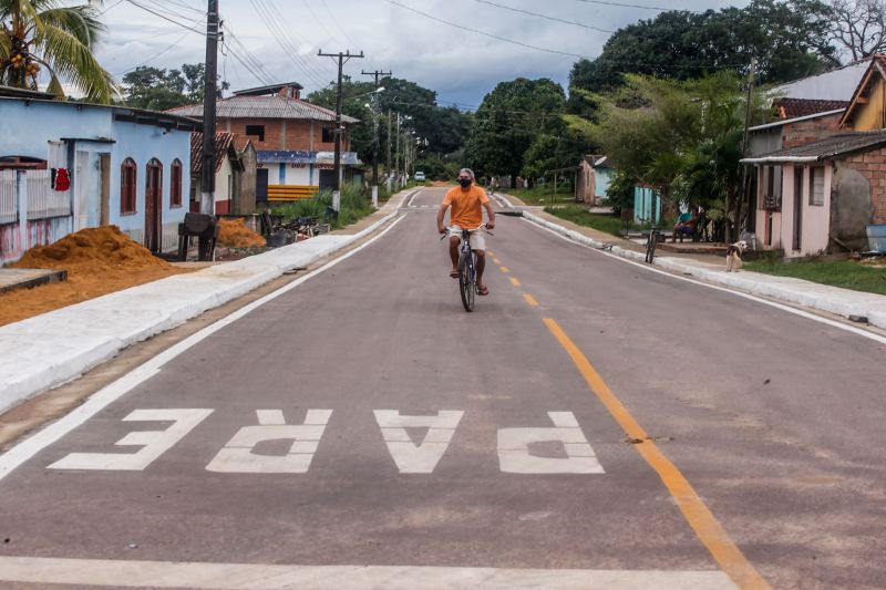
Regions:
[[117, 226], [81, 229], [55, 244], [34, 246], [10, 266], [64, 269], [69, 273], [169, 268], [168, 262], [134, 242]]

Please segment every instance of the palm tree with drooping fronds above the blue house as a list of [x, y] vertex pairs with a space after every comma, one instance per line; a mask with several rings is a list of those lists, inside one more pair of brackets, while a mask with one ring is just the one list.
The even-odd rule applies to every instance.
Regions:
[[0, 84], [37, 90], [45, 69], [48, 92], [63, 99], [64, 80], [86, 100], [109, 104], [116, 85], [92, 54], [104, 31], [97, 17], [93, 2], [64, 7], [60, 0], [0, 0]]

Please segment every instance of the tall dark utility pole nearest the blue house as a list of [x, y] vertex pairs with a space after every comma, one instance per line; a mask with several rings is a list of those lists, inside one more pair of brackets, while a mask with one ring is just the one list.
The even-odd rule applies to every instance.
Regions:
[[218, 79], [218, 0], [206, 12], [206, 77], [203, 87], [200, 213], [215, 215], [215, 101]]

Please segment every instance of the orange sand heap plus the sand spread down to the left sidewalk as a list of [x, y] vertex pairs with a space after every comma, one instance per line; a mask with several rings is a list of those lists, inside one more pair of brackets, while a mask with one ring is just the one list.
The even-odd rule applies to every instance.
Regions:
[[10, 266], [64, 269], [68, 280], [0, 293], [0, 325], [190, 270], [155, 258], [116, 226], [81, 229]]

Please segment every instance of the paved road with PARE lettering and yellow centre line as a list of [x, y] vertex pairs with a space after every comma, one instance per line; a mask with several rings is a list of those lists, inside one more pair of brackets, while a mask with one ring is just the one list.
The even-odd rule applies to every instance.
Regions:
[[13, 449], [0, 586], [886, 587], [886, 346], [504, 217], [468, 314], [441, 199]]

